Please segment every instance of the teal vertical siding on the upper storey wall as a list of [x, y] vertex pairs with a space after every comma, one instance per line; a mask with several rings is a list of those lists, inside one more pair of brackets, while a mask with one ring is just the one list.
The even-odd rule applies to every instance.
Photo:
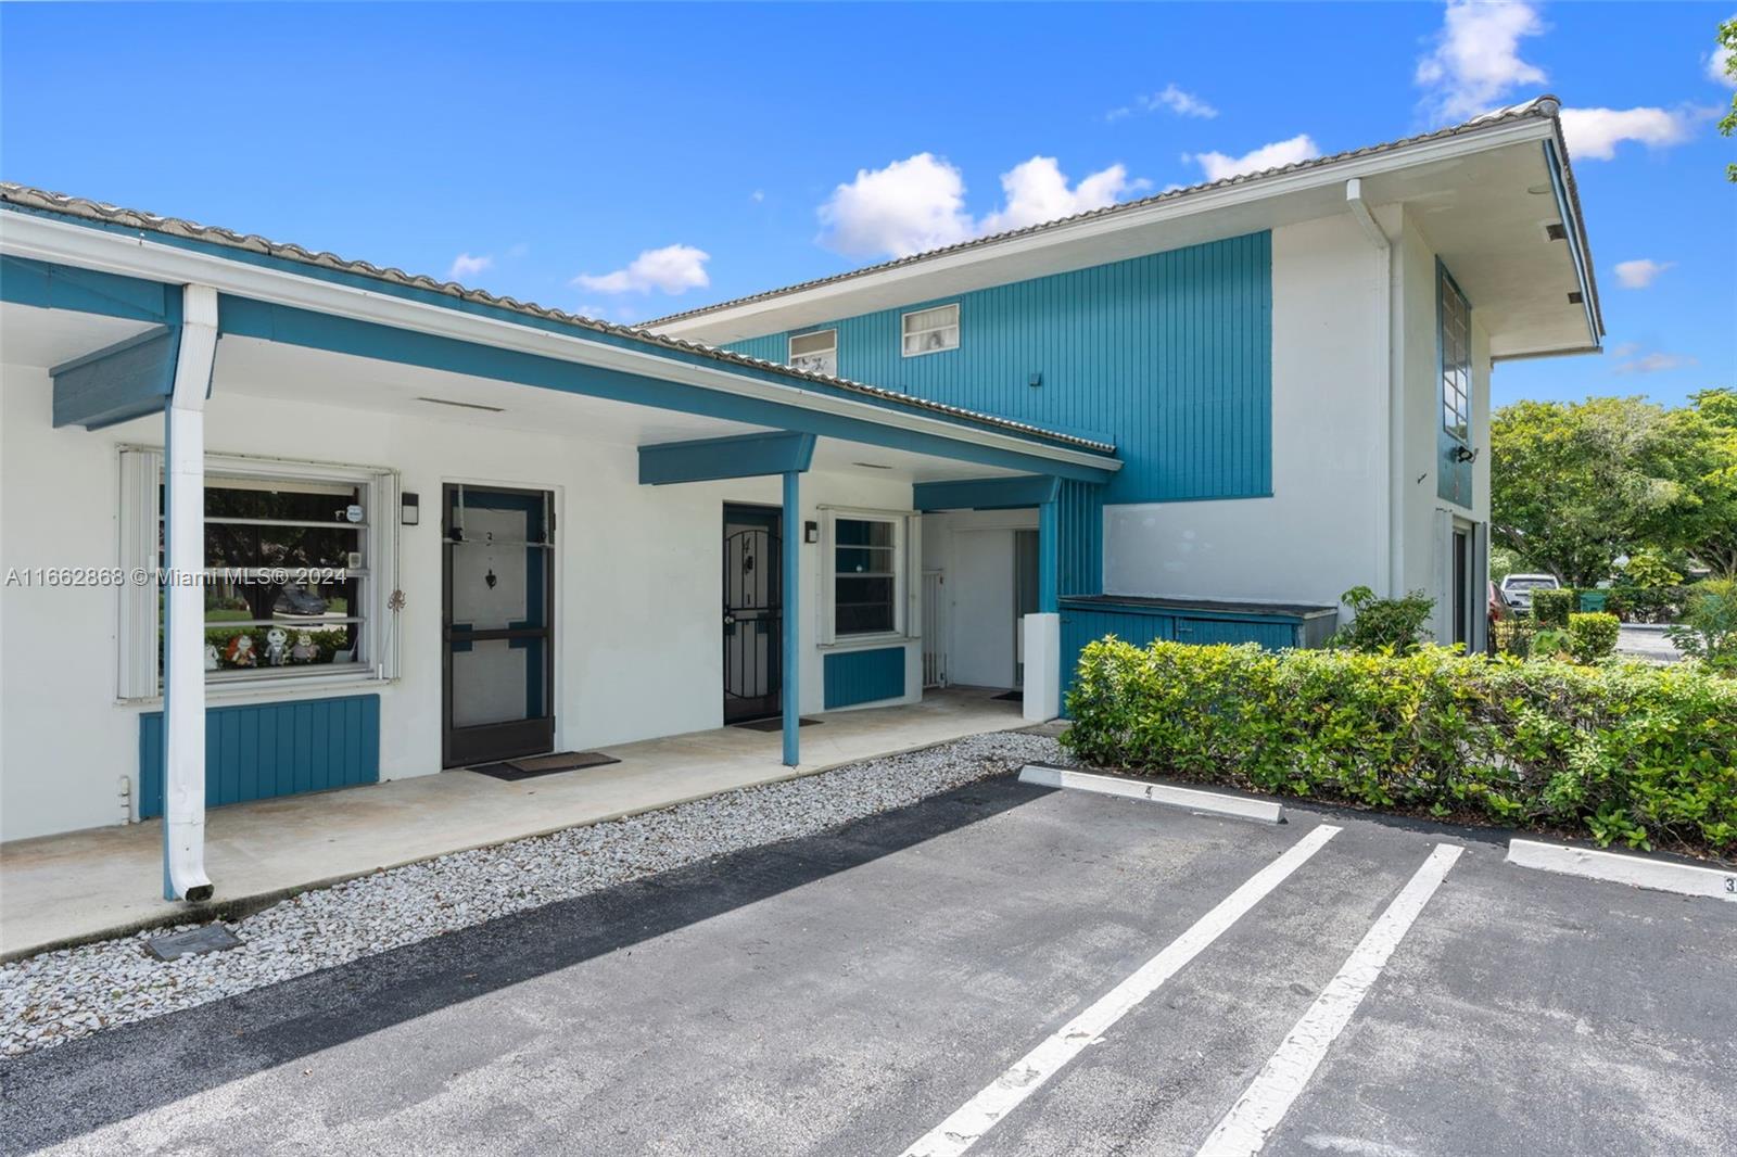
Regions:
[[[902, 314], [954, 301], [959, 349], [900, 356]], [[1271, 235], [1251, 233], [804, 330], [839, 330], [842, 377], [1115, 441], [1106, 502], [1237, 499], [1271, 493]]]

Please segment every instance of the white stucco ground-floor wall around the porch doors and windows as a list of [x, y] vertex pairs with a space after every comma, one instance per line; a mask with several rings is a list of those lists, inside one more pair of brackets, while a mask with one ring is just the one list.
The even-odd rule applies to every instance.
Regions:
[[[45, 370], [0, 367], [0, 573], [28, 566], [115, 566], [118, 446], [162, 445], [162, 420], [99, 433], [52, 429]], [[323, 691], [214, 691], [212, 705], [301, 695], [380, 695], [380, 775], [441, 764], [441, 485], [556, 493], [556, 744], [596, 749], [723, 723], [723, 504], [782, 500], [776, 478], [639, 486], [634, 446], [497, 431], [460, 420], [339, 410], [224, 391], [208, 407], [210, 453], [276, 455], [401, 473], [422, 523], [401, 528], [400, 678]], [[813, 473], [804, 518], [839, 504], [905, 511], [896, 478]], [[396, 512], [391, 512], [396, 516]], [[790, 535], [801, 540], [797, 526]], [[822, 709], [815, 648], [818, 545], [802, 551], [802, 711]], [[115, 589], [0, 591], [0, 839], [115, 823], [118, 780], [137, 777], [139, 721], [160, 704], [116, 702]], [[907, 700], [921, 655], [907, 645]]]

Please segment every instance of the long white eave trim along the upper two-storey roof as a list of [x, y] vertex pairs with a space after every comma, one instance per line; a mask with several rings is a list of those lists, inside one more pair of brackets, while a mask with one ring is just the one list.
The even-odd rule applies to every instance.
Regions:
[[[1370, 177], [1383, 172], [1393, 172], [1397, 169], [1409, 169], [1412, 165], [1452, 160], [1456, 156], [1482, 153], [1522, 141], [1549, 139], [1555, 139], [1551, 122], [1542, 116], [1527, 116], [1496, 129], [1473, 129], [1459, 136], [1421, 141], [1417, 144], [1407, 144], [1398, 149], [1370, 156], [1350, 156], [1341, 162], [1278, 174], [1273, 177], [1251, 177], [1240, 184], [1202, 189], [1199, 193], [1178, 196], [1169, 202], [1157, 202], [1141, 208], [1105, 214], [1101, 217], [1087, 217], [1086, 221], [1075, 221], [1021, 236], [1011, 236], [1004, 241], [990, 241], [987, 245], [974, 245], [952, 254], [940, 254], [936, 257], [891, 266], [875, 273], [846, 276], [806, 290], [775, 294], [759, 301], [742, 302], [740, 306], [721, 306], [707, 313], [697, 313], [688, 318], [658, 325], [655, 332], [681, 337], [684, 332], [700, 328], [709, 330], [717, 327], [745, 325], [754, 318], [773, 314], [792, 306], [818, 306], [827, 301], [844, 299], [865, 288], [881, 288], [888, 285], [900, 285], [903, 281], [915, 281], [938, 273], [968, 269], [988, 261], [1002, 261], [1060, 245], [1070, 245], [1073, 241], [1098, 238], [1106, 233], [1120, 233], [1124, 229], [1138, 229], [1141, 226], [1155, 226], [1181, 221], [1185, 217], [1197, 217], [1266, 198], [1284, 196], [1287, 193], [1303, 193], [1324, 186], [1341, 186], [1344, 181], [1353, 177]], [[912, 295], [910, 301], [926, 301], [926, 295], [919, 292]], [[827, 316], [851, 316], [851, 311], [846, 307], [842, 311], [829, 313]], [[816, 321], [815, 325], [825, 325], [825, 320]], [[752, 330], [756, 327], [749, 328]]]

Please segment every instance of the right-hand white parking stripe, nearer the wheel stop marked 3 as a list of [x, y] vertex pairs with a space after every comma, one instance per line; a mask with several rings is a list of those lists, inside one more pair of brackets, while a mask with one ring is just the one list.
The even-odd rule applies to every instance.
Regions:
[[1252, 1157], [1266, 1145], [1266, 1138], [1284, 1119], [1291, 1103], [1315, 1075], [1315, 1068], [1327, 1055], [1327, 1046], [1351, 1020], [1351, 1013], [1362, 1004], [1369, 987], [1376, 983], [1381, 969], [1386, 968], [1393, 949], [1410, 929], [1423, 905], [1430, 902], [1440, 888], [1447, 870], [1454, 867], [1463, 850], [1454, 844], [1436, 844], [1430, 858], [1400, 889], [1381, 919], [1364, 935], [1364, 940], [1351, 949], [1344, 968], [1327, 982], [1315, 1004], [1303, 1013], [1303, 1020], [1291, 1028], [1291, 1035], [1278, 1046], [1266, 1068], [1254, 1079], [1225, 1119], [1212, 1129], [1212, 1136], [1200, 1147], [1199, 1157]]

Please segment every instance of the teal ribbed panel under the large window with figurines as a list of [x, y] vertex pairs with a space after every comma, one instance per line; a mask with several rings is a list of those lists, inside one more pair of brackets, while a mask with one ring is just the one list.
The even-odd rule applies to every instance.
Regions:
[[[380, 697], [205, 712], [205, 806], [377, 783]], [[139, 716], [139, 817], [163, 815], [163, 714]]]

